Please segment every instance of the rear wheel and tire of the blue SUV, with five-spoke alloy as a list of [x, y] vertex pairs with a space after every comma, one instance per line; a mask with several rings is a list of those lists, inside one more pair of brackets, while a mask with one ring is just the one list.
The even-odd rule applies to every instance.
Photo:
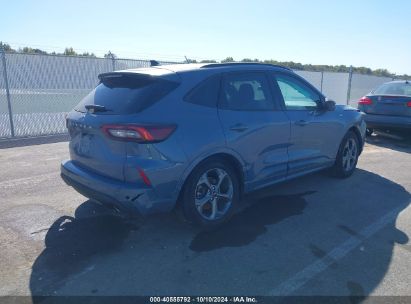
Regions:
[[182, 193], [185, 219], [204, 229], [217, 227], [233, 215], [240, 199], [235, 170], [220, 160], [209, 160], [196, 167]]

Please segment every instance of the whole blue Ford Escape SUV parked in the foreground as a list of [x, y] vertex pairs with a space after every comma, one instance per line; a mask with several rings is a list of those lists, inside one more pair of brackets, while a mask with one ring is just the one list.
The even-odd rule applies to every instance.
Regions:
[[99, 80], [68, 114], [61, 176], [123, 210], [178, 206], [212, 227], [244, 193], [328, 167], [350, 176], [364, 144], [361, 112], [281, 66], [166, 65]]

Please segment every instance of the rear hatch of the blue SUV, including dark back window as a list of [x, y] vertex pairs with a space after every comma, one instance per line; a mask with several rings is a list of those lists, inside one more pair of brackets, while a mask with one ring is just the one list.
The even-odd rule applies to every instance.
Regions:
[[126, 138], [121, 134], [111, 136], [103, 126], [116, 128], [138, 123], [138, 113], [174, 90], [179, 84], [178, 76], [113, 72], [101, 74], [99, 79], [97, 87], [67, 118], [70, 156], [81, 167], [124, 181]]

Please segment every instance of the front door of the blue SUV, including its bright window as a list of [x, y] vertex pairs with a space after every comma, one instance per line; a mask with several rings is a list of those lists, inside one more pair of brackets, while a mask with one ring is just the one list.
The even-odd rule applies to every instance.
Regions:
[[288, 177], [332, 164], [339, 145], [336, 138], [344, 127], [336, 113], [320, 107], [324, 97], [302, 78], [285, 73], [271, 75], [291, 122]]

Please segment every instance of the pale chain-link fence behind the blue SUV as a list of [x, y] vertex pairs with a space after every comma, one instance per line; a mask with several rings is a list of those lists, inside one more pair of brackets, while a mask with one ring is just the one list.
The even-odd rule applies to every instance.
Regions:
[[[96, 86], [98, 74], [150, 66], [148, 60], [134, 59], [4, 52], [0, 56], [0, 138], [65, 133], [65, 114]], [[391, 80], [350, 73], [296, 73], [338, 104], [353, 106]]]

